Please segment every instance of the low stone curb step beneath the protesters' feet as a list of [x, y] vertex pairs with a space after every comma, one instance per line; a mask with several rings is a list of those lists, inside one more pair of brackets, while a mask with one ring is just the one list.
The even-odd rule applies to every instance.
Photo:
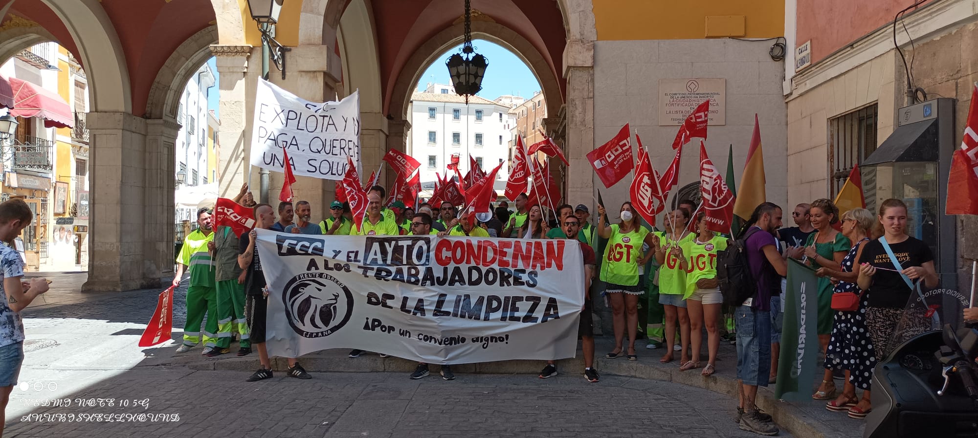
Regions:
[[[231, 353], [232, 355], [234, 353]], [[180, 361], [182, 362], [182, 361]], [[580, 358], [562, 359], [557, 362], [557, 370], [561, 373], [570, 371], [580, 371], [584, 369], [584, 361]], [[345, 350], [340, 353], [338, 350], [314, 353], [300, 358], [299, 364], [307, 372], [404, 372], [407, 374], [414, 372], [418, 366], [416, 362], [389, 357], [380, 358], [377, 353], [364, 353], [358, 358], [351, 359], [346, 357]], [[196, 360], [186, 363], [191, 370], [198, 371], [240, 371], [253, 372], [259, 368], [257, 352], [252, 352], [247, 357], [228, 357], [221, 359]], [[511, 360], [488, 362], [481, 364], [460, 364], [453, 365], [452, 370], [456, 373], [493, 373], [493, 374], [531, 374], [534, 375], [543, 369], [544, 361]], [[274, 358], [272, 368], [277, 372], [285, 372], [289, 363], [284, 358]], [[431, 366], [432, 370], [437, 371], [437, 365]], [[621, 375], [626, 377], [636, 377], [650, 380], [667, 381], [684, 384], [687, 386], [708, 389], [710, 391], [723, 394], [732, 399], [737, 398], [737, 383], [735, 379], [725, 376], [703, 376], [698, 370], [691, 372], [681, 372], [679, 368], [672, 366], [655, 366], [642, 362], [628, 361], [621, 359], [596, 358], [595, 367], [602, 374]], [[770, 389], [769, 389], [770, 388]], [[824, 431], [835, 430], [832, 426], [824, 423], [821, 419], [806, 414], [801, 409], [789, 403], [778, 401], [775, 398], [773, 387], [760, 388], [757, 394], [757, 405], [775, 418], [778, 426], [789, 431], [798, 437], [812, 438], [835, 438], [842, 435], [838, 433]], [[733, 415], [733, 410], [732, 410]], [[723, 418], [723, 420], [733, 420]]]

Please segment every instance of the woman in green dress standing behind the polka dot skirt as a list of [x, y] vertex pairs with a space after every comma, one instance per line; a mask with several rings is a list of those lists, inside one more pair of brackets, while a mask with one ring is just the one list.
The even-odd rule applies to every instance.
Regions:
[[[817, 199], [810, 210], [815, 233], [805, 242], [805, 263], [813, 269], [828, 268], [841, 270], [842, 259], [852, 247], [852, 242], [834, 228], [839, 221], [839, 208], [829, 199]], [[828, 348], [832, 333], [832, 282], [826, 277], [819, 278], [819, 345], [822, 351]], [[815, 400], [835, 398], [835, 382], [831, 370], [825, 370], [819, 390], [812, 395]]]

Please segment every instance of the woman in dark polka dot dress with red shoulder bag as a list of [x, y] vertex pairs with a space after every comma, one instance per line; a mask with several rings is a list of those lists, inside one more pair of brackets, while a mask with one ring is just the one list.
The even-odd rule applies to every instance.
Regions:
[[[853, 264], [859, 260], [863, 252], [863, 243], [869, 241], [867, 234], [873, 225], [873, 216], [865, 208], [854, 208], [842, 215], [842, 234], [852, 241], [852, 249], [842, 259], [842, 271], [821, 268], [817, 274], [829, 277], [835, 284], [834, 293], [856, 292], [859, 286], [856, 279], [859, 271], [853, 272]], [[872, 369], [876, 366], [876, 355], [872, 348], [872, 339], [866, 325], [866, 308], [868, 294], [860, 297], [859, 308], [852, 312], [833, 310], [831, 338], [825, 352], [826, 370], [844, 370], [846, 384], [842, 394], [835, 400], [829, 401], [825, 409], [832, 412], [849, 412], [852, 417], [864, 417], [872, 406], [869, 403], [869, 386], [872, 379]], [[863, 398], [856, 397], [856, 387], [863, 389]], [[853, 416], [856, 413], [857, 416]]]

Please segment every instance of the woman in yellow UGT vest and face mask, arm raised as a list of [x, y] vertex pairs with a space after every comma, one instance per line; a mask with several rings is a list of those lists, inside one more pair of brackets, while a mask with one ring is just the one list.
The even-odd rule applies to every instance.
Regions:
[[652, 254], [642, 254], [642, 244], [655, 247], [657, 239], [645, 227], [639, 225], [632, 202], [621, 205], [621, 222], [611, 226], [604, 225], [605, 211], [598, 205], [598, 236], [606, 239], [604, 263], [601, 264], [601, 281], [604, 292], [611, 300], [615, 348], [605, 357], [621, 357], [625, 330], [628, 329], [628, 360], [636, 361], [636, 328], [639, 327], [639, 295], [643, 292], [639, 285], [639, 266], [645, 265]]

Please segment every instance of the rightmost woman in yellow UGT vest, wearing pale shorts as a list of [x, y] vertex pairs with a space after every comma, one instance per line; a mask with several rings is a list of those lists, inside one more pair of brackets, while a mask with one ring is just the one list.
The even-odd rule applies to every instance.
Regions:
[[703, 344], [702, 327], [706, 325], [709, 362], [701, 372], [716, 372], [717, 352], [720, 351], [720, 307], [724, 296], [717, 285], [717, 251], [727, 249], [727, 239], [706, 229], [706, 213], [696, 213], [697, 235], [692, 240], [673, 245], [672, 253], [680, 261], [680, 269], [686, 271], [686, 303], [689, 312], [689, 334], [692, 343], [692, 359], [680, 367], [681, 371], [699, 368], [699, 349]]

